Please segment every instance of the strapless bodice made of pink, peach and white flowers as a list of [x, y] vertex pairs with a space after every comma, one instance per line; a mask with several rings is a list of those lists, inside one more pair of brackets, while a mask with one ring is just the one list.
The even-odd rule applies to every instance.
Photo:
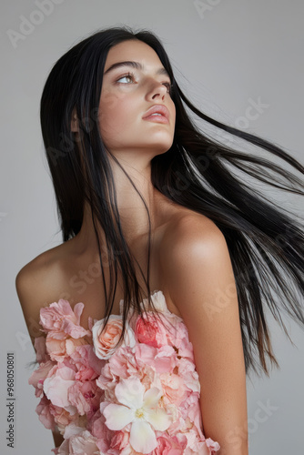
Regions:
[[[120, 315], [80, 325], [82, 302], [60, 299], [40, 309], [46, 336], [35, 339], [39, 367], [28, 379], [40, 398], [36, 407], [47, 429], [59, 430], [58, 455], [213, 455], [218, 442], [205, 439], [200, 384], [183, 319], [167, 308], [162, 291], [151, 295], [160, 311], [127, 319]], [[147, 298], [141, 303], [147, 308]], [[150, 318], [151, 316], [151, 318]], [[165, 324], [162, 324], [163, 321]]]

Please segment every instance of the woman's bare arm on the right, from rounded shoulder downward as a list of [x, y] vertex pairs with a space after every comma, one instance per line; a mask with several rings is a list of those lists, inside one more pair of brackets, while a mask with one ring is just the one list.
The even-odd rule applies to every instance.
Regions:
[[171, 233], [163, 266], [193, 344], [205, 437], [218, 441], [218, 455], [247, 455], [245, 360], [226, 240], [212, 222], [187, 220]]

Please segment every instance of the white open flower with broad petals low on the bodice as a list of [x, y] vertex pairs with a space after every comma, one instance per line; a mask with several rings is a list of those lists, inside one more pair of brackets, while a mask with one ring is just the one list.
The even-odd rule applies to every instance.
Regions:
[[156, 449], [157, 438], [154, 430], [167, 430], [171, 424], [167, 412], [158, 407], [162, 390], [153, 387], [146, 391], [138, 378], [127, 378], [120, 379], [115, 394], [121, 405], [111, 403], [106, 406], [106, 426], [110, 430], [123, 430], [131, 423], [132, 448], [140, 453], [149, 453]]

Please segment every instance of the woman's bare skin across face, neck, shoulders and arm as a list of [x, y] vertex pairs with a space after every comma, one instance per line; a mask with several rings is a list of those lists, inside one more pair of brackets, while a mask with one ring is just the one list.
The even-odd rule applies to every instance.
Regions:
[[[137, 62], [142, 67], [121, 66], [107, 72], [122, 61]], [[101, 135], [146, 200], [152, 222], [150, 288], [163, 291], [168, 309], [184, 319], [187, 326], [201, 386], [205, 437], [218, 441], [218, 455], [248, 455], [245, 362], [226, 240], [211, 220], [168, 200], [151, 183], [150, 161], [171, 147], [176, 120], [167, 88], [170, 80], [159, 69], [164, 68], [156, 52], [141, 41], [125, 41], [110, 49], [99, 105]], [[143, 119], [147, 109], [155, 104], [167, 106], [168, 124]], [[77, 127], [75, 118], [73, 131]], [[111, 166], [127, 244], [145, 270], [146, 209], [114, 160]], [[87, 286], [81, 294], [75, 287], [80, 271], [87, 271], [98, 262], [88, 208], [86, 205], [83, 225], [75, 238], [42, 253], [16, 277], [18, 298], [33, 344], [35, 337], [41, 335], [37, 329], [40, 308], [59, 298], [66, 298], [71, 304], [85, 303], [81, 324], [86, 328], [88, 316], [104, 317], [101, 278], [86, 279]], [[101, 227], [98, 233], [104, 240]], [[107, 280], [108, 270], [105, 271]], [[145, 288], [139, 274], [137, 278]], [[118, 286], [114, 314], [119, 313], [120, 298], [123, 289]], [[53, 436], [58, 446], [63, 438], [56, 432]]]

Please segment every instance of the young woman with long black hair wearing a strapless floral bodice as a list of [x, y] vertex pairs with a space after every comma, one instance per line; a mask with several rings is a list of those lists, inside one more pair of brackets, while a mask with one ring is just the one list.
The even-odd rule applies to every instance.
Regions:
[[246, 374], [279, 367], [264, 310], [304, 324], [303, 231], [247, 177], [298, 194], [301, 180], [206, 136], [185, 105], [303, 172], [193, 106], [145, 30], [88, 36], [46, 80], [64, 243], [16, 289], [56, 453], [247, 455]]

